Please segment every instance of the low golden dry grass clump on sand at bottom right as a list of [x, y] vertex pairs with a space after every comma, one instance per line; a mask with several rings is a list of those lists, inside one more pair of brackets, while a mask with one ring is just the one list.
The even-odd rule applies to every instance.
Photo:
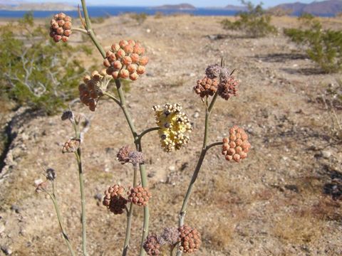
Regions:
[[294, 245], [308, 243], [321, 238], [324, 225], [311, 214], [287, 215], [274, 225], [274, 235], [284, 243]]

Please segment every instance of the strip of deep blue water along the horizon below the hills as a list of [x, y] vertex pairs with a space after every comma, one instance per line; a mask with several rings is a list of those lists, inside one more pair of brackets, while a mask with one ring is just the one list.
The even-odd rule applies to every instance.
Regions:
[[[53, 14], [58, 13], [59, 11], [33, 11], [33, 16], [35, 18], [46, 18], [50, 17]], [[68, 16], [78, 17], [77, 11], [63, 11]], [[145, 13], [149, 15], [154, 15], [156, 12], [162, 12], [163, 14], [175, 14], [175, 13], [184, 13], [184, 14], [192, 14], [196, 16], [234, 16], [237, 14], [237, 11], [229, 11], [226, 9], [206, 9], [206, 8], [198, 8], [195, 10], [157, 10], [152, 9], [150, 7], [142, 7], [142, 6], [88, 6], [88, 12], [90, 17], [100, 17], [100, 16], [117, 16], [119, 14], [125, 14], [130, 12], [135, 13]], [[1, 18], [21, 18], [26, 14], [27, 11], [4, 11], [0, 10]]]

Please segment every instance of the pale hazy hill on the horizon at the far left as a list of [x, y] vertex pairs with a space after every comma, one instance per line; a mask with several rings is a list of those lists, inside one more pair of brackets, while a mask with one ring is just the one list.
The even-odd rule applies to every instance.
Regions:
[[[14, 1], [10, 1], [14, 2]], [[6, 5], [5, 5], [6, 4]], [[77, 8], [68, 4], [58, 3], [22, 3], [17, 5], [7, 5], [8, 2], [0, 0], [0, 9], [9, 11], [75, 11]]]

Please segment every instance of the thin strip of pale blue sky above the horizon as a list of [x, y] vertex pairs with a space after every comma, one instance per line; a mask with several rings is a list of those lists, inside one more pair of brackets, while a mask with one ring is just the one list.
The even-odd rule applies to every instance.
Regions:
[[[29, 2], [64, 2], [70, 4], [78, 4], [80, 1], [77, 0], [26, 0]], [[263, 0], [265, 7], [276, 6], [277, 4], [293, 3], [295, 1], [300, 1], [301, 3], [311, 3], [314, 0]], [[162, 4], [181, 4], [188, 3], [193, 4], [197, 7], [203, 6], [227, 6], [228, 4], [241, 5], [239, 0], [87, 0], [88, 5], [121, 5], [121, 6], [158, 6]], [[259, 4], [259, 0], [252, 0], [252, 3]]]

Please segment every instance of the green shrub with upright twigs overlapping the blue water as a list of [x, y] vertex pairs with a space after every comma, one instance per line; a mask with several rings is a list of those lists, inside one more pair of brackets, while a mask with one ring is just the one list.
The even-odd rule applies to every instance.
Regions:
[[229, 30], [244, 31], [247, 36], [258, 38], [267, 36], [270, 33], [276, 33], [276, 27], [271, 25], [271, 16], [266, 14], [262, 8], [262, 4], [254, 6], [252, 2], [242, 1], [242, 4], [247, 6], [247, 11], [238, 14], [237, 21], [229, 21], [225, 18], [221, 21], [223, 28]]

